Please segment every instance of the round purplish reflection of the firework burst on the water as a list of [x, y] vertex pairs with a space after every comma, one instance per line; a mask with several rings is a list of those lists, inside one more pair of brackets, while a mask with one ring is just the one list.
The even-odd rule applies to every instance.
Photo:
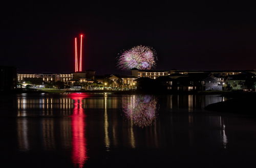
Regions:
[[133, 96], [123, 102], [126, 118], [139, 127], [149, 126], [156, 118], [157, 100], [153, 96]]

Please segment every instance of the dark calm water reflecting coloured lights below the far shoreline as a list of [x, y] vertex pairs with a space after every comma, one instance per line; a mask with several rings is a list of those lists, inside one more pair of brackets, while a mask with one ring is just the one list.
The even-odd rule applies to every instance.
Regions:
[[215, 95], [0, 96], [1, 167], [255, 167], [256, 119]]

